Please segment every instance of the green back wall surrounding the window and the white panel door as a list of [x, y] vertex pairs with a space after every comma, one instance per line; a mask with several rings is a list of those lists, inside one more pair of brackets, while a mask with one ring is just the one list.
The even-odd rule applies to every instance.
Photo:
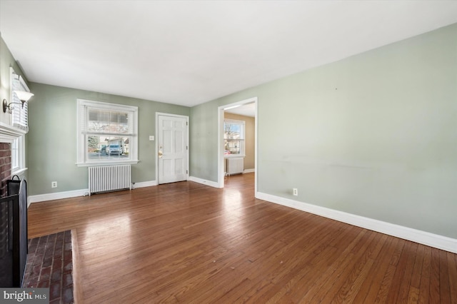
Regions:
[[[137, 98], [30, 83], [35, 94], [29, 103], [29, 195], [87, 188], [86, 167], [76, 166], [76, 99], [121, 103], [139, 107], [139, 160], [132, 165], [135, 183], [156, 181], [156, 112], [189, 116], [190, 108]], [[51, 188], [57, 181], [58, 188]]]

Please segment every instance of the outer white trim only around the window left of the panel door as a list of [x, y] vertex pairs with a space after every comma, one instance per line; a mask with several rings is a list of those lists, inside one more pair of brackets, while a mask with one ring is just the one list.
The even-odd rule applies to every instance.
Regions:
[[[106, 103], [101, 101], [89, 101], [86, 99], [77, 99], [76, 102], [77, 110], [76, 110], [76, 165], [80, 167], [89, 167], [89, 166], [101, 166], [101, 165], [116, 165], [116, 164], [128, 164], [128, 163], [138, 163], [138, 107], [137, 106], [125, 106], [118, 103]], [[111, 111], [131, 111], [134, 115], [134, 133], [129, 135], [131, 136], [131, 143], [130, 146], [130, 155], [131, 158], [129, 160], [109, 160], [109, 161], [88, 161], [86, 159], [86, 142], [84, 140], [84, 133], [82, 132], [82, 124], [81, 124], [81, 111], [84, 109], [85, 106], [91, 106], [94, 108], [104, 108]]]

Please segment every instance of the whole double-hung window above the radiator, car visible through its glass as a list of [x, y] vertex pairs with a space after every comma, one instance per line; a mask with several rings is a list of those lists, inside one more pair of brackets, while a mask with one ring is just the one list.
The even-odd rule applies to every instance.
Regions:
[[138, 162], [138, 107], [78, 100], [79, 166]]

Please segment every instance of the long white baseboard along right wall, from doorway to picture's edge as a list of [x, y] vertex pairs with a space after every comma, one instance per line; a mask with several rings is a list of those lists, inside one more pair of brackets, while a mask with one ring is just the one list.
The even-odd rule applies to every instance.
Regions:
[[336, 221], [348, 223], [353, 226], [366, 228], [380, 233], [396, 236], [397, 238], [403, 238], [405, 240], [411, 240], [416, 243], [428, 245], [433, 248], [446, 250], [451, 253], [457, 253], [457, 239], [448, 238], [443, 235], [437, 235], [428, 233], [426, 231], [399, 226], [392, 223], [374, 220], [373, 218], [365, 218], [363, 216], [356, 216], [351, 213], [333, 210], [321, 206], [311, 205], [299, 201], [293, 201], [289, 198], [281, 198], [280, 196], [272, 196], [267, 193], [256, 193], [256, 198], [271, 203], [277, 203], [279, 205], [295, 208], [308, 213], [313, 213], [318, 216], [325, 218], [331, 218]]

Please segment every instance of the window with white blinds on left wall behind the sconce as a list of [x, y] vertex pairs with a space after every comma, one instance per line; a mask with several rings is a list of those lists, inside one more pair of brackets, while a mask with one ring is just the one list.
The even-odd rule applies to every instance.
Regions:
[[29, 107], [28, 101], [21, 105], [21, 100], [18, 98], [14, 91], [26, 91], [30, 92], [24, 78], [17, 75], [13, 68], [10, 68], [10, 79], [11, 79], [11, 124], [16, 128], [20, 128], [24, 131], [29, 131]]

